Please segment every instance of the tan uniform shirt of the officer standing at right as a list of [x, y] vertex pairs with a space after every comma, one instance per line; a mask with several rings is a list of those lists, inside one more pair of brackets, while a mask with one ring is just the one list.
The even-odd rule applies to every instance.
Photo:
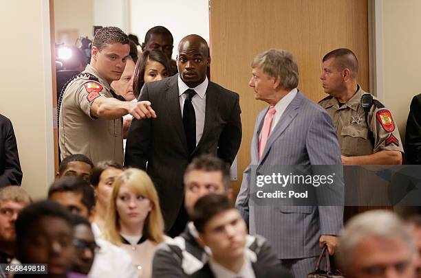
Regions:
[[[334, 122], [341, 152], [347, 157], [374, 154], [380, 150], [398, 150], [403, 152], [398, 126], [393, 121], [387, 108], [373, 104], [367, 115], [361, 106], [361, 97], [366, 92], [358, 85], [358, 91], [339, 107], [335, 97], [326, 97], [319, 104], [326, 109]], [[376, 100], [376, 97], [373, 97]], [[373, 134], [374, 143], [369, 139], [369, 131]]]

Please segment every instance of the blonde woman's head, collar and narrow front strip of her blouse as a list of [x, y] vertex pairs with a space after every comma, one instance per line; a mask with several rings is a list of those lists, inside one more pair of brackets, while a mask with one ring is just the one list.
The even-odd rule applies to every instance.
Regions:
[[128, 169], [116, 178], [103, 236], [131, 255], [139, 277], [152, 276], [153, 255], [165, 235], [158, 194], [146, 172]]

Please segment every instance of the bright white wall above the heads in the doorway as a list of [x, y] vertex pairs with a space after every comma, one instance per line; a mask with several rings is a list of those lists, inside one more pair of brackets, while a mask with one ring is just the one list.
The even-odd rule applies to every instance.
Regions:
[[156, 25], [162, 25], [174, 37], [173, 58], [177, 45], [188, 34], [197, 34], [209, 42], [208, 0], [130, 0], [131, 25], [129, 32], [136, 34], [139, 43]]

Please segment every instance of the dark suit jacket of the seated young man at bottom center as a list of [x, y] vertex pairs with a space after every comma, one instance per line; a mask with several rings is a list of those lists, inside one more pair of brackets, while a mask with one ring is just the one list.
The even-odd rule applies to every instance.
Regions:
[[[267, 266], [264, 264], [252, 263], [252, 268], [255, 271], [256, 278], [292, 278], [292, 275], [284, 270], [281, 266]], [[205, 264], [202, 269], [197, 270], [191, 278], [217, 278], [212, 270], [210, 270], [209, 263]], [[246, 277], [244, 277], [246, 278]]]

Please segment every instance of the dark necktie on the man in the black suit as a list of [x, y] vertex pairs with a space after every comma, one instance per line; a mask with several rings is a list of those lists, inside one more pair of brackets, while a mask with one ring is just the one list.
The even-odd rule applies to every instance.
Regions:
[[191, 154], [196, 148], [196, 114], [193, 103], [191, 102], [196, 92], [193, 89], [188, 89], [184, 93], [186, 94], [186, 100], [184, 100], [183, 107], [183, 124], [184, 132], [186, 133], [188, 154]]

